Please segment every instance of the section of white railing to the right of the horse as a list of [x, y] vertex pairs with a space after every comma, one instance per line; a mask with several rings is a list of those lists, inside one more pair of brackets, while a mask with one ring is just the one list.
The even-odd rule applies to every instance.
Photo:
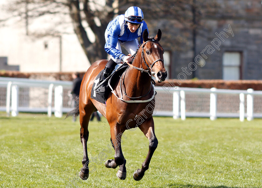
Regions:
[[[239, 117], [248, 121], [254, 117], [262, 118], [262, 91], [253, 89], [204, 89], [204, 88], [182, 88], [182, 87], [156, 87], [160, 94], [156, 104], [156, 115], [169, 115], [174, 119], [181, 117]], [[161, 95], [162, 94], [162, 95]], [[159, 109], [161, 103], [172, 98], [172, 110]], [[158, 98], [156, 96], [156, 98]], [[159, 101], [161, 103], [159, 104]]]

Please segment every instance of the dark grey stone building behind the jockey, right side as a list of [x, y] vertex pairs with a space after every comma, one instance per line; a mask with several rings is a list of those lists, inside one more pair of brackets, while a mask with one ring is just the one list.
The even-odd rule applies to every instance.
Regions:
[[[168, 0], [150, 8], [137, 4], [144, 12], [149, 34], [156, 34], [158, 28], [162, 30], [160, 43], [165, 50], [169, 78], [261, 80], [261, 1], [187, 3], [182, 12]], [[195, 14], [190, 3], [196, 3]]]

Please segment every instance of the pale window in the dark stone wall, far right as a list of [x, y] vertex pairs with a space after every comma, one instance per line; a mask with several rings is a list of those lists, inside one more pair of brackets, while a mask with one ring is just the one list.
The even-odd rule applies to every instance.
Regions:
[[223, 80], [241, 79], [241, 53], [225, 52], [223, 54]]

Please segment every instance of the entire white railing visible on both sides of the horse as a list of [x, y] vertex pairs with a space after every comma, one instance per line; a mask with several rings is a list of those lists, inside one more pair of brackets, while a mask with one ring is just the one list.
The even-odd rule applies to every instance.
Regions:
[[[70, 111], [72, 82], [44, 81], [0, 77], [0, 111], [17, 116], [18, 112], [52, 112], [61, 117]], [[262, 118], [262, 91], [155, 87], [156, 116], [186, 117], [245, 117], [251, 121]]]

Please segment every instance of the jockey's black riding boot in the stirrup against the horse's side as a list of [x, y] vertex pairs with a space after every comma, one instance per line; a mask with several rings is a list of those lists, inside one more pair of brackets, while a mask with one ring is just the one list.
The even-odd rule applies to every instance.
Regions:
[[[110, 59], [105, 67], [104, 67], [104, 71], [102, 74], [102, 77], [100, 78], [99, 84], [104, 81], [114, 70], [114, 67], [117, 65], [116, 62], [114, 62], [113, 59]], [[105, 81], [102, 85], [99, 86], [99, 88], [96, 90], [97, 93], [104, 93], [106, 91], [107, 88], [105, 88], [105, 86], [107, 85], [107, 81]]]

